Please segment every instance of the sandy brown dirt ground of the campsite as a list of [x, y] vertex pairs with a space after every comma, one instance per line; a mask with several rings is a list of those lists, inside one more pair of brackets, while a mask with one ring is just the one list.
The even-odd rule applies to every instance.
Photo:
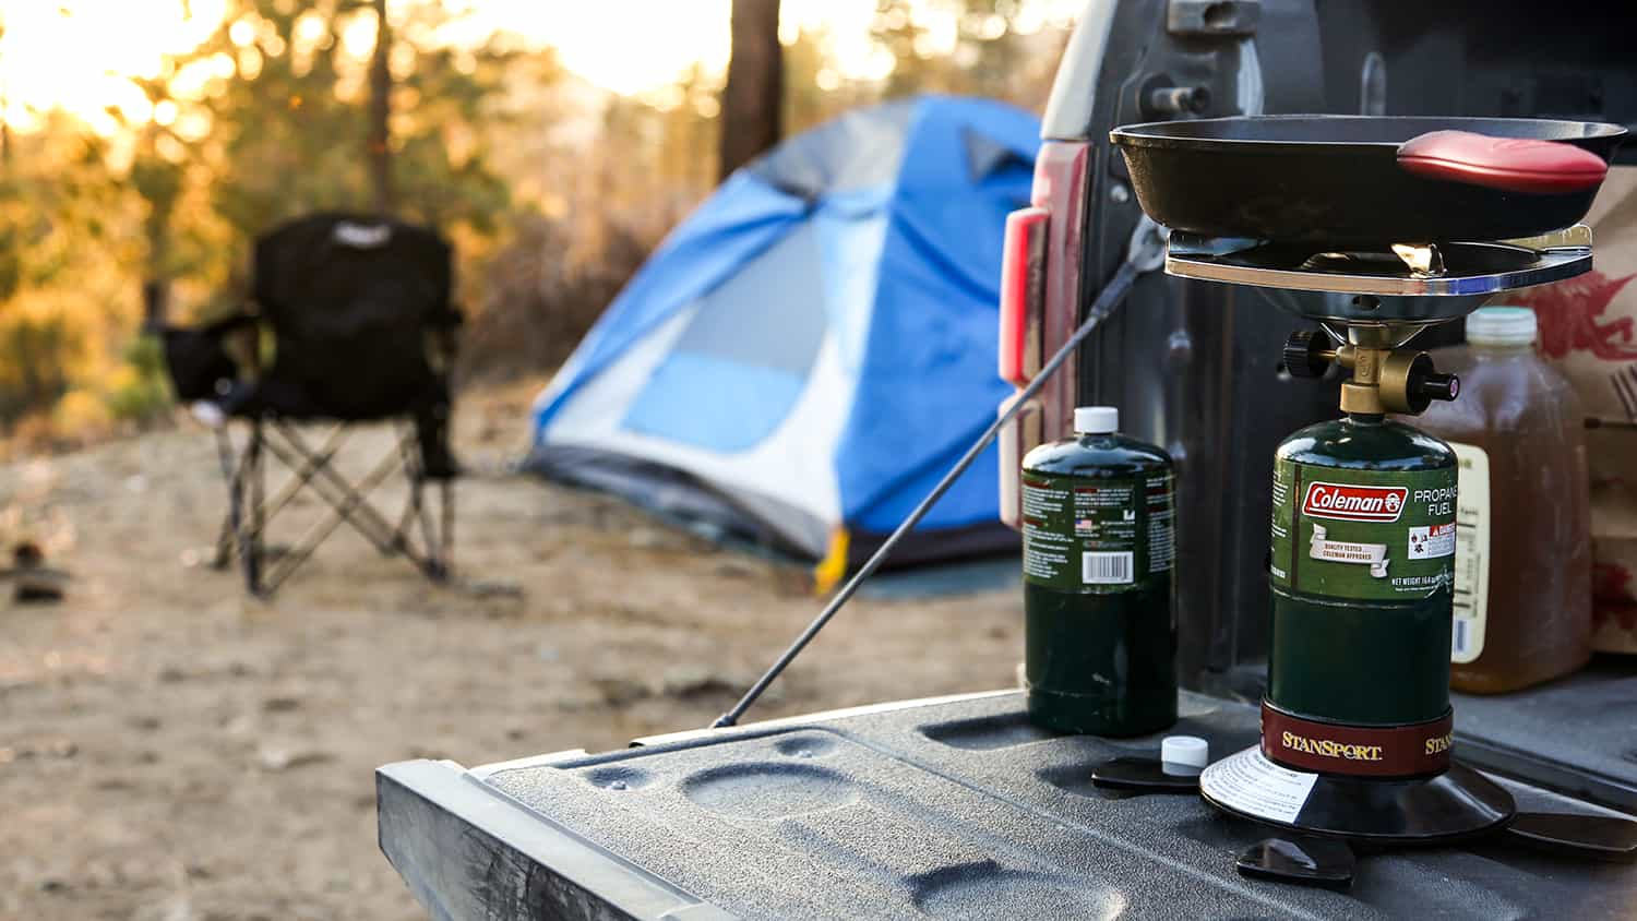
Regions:
[[[815, 613], [804, 573], [506, 473], [534, 389], [463, 398], [465, 589], [337, 533], [247, 600], [201, 564], [226, 492], [198, 425], [0, 466], [0, 540], [72, 573], [56, 605], [0, 582], [0, 919], [421, 918], [375, 844], [377, 766], [720, 713]], [[360, 432], [347, 458], [388, 443]], [[278, 540], [318, 514], [291, 507]], [[753, 715], [1005, 685], [1020, 610], [859, 600]]]

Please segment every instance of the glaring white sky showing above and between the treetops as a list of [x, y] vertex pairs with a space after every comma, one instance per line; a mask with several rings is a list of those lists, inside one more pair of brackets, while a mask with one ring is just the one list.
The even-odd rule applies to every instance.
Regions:
[[[401, 2], [401, 0], [396, 0]], [[1072, 15], [1080, 0], [1038, 3], [1039, 16]], [[18, 129], [64, 110], [101, 134], [118, 131], [115, 108], [126, 121], [175, 118], [151, 111], [129, 77], [159, 72], [165, 54], [198, 46], [221, 23], [226, 0], [0, 0], [0, 105]], [[509, 31], [557, 49], [563, 65], [591, 83], [624, 95], [652, 93], [691, 67], [717, 74], [728, 57], [730, 0], [467, 0], [470, 15], [452, 29], [452, 43], [481, 41]], [[838, 77], [881, 79], [892, 56], [869, 39], [876, 0], [784, 0], [782, 33], [828, 36]], [[953, 44], [953, 15], [922, 0], [915, 20], [927, 26], [928, 52]], [[344, 36], [350, 54], [367, 56], [375, 41], [367, 21]], [[1020, 23], [1023, 31], [1028, 23]], [[239, 29], [236, 29], [239, 31]], [[232, 34], [247, 44], [254, 36]], [[242, 39], [242, 41], [241, 41]], [[226, 62], [231, 67], [231, 61]]]

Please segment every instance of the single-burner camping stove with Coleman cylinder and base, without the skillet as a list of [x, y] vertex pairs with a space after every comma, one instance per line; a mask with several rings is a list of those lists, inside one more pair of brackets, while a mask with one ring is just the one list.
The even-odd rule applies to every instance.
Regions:
[[1450, 759], [1455, 456], [1393, 416], [1460, 393], [1406, 347], [1421, 329], [1588, 268], [1583, 226], [1380, 250], [1172, 234], [1167, 273], [1249, 285], [1318, 321], [1287, 342], [1290, 375], [1347, 375], [1342, 419], [1277, 452], [1262, 741], [1203, 772], [1211, 805], [1382, 842], [1467, 838], [1513, 818], [1506, 790]]

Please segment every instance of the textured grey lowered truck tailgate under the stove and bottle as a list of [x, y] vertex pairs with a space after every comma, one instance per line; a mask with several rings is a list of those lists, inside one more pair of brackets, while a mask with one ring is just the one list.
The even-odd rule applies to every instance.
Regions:
[[[1580, 681], [1611, 703], [1624, 687], [1621, 707], [1637, 708], [1637, 679]], [[1572, 717], [1552, 692], [1565, 697], [1549, 689], [1531, 718]], [[909, 702], [471, 770], [391, 764], [377, 774], [381, 849], [434, 918], [1495, 919], [1637, 905], [1637, 867], [1501, 844], [1369, 856], [1349, 893], [1247, 880], [1233, 857], [1259, 826], [1192, 795], [1090, 785], [1089, 766], [1154, 753], [1157, 736], [1053, 736], [1021, 703]], [[1491, 725], [1485, 702], [1460, 707], [1459, 754], [1517, 748], [1508, 731], [1473, 738]], [[1185, 694], [1182, 710], [1172, 731], [1208, 738], [1211, 757], [1256, 738], [1249, 705]], [[1637, 762], [1606, 753], [1637, 749], [1637, 721], [1606, 717], [1586, 721], [1601, 741], [1573, 725], [1560, 738], [1604, 753], [1583, 785], [1619, 798]], [[1503, 782], [1521, 808], [1608, 811]]]

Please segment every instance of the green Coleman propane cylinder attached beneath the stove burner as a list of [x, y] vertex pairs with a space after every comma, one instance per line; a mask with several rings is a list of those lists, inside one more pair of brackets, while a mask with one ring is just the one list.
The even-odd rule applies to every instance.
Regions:
[[[1321, 422], [1280, 443], [1264, 707], [1270, 757], [1278, 759], [1280, 738], [1301, 749], [1288, 762], [1341, 757], [1349, 764], [1336, 769], [1346, 772], [1416, 774], [1445, 756], [1455, 463], [1439, 438], [1383, 416]], [[1272, 733], [1272, 723], [1290, 730]], [[1357, 733], [1341, 748], [1313, 743], [1337, 738], [1315, 730], [1323, 725]], [[1398, 756], [1393, 744], [1405, 738], [1421, 741]]]

